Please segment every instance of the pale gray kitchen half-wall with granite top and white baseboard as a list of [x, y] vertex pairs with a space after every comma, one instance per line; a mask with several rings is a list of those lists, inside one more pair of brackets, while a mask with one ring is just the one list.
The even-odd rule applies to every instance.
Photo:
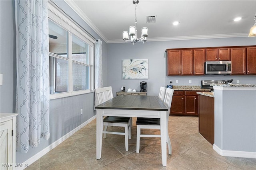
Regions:
[[212, 86], [213, 149], [222, 156], [256, 158], [256, 85]]

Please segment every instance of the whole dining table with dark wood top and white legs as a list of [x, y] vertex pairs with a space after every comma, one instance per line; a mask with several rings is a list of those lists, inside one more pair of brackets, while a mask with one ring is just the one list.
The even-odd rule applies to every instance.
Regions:
[[160, 135], [162, 150], [162, 165], [166, 166], [166, 141], [168, 135], [167, 111], [168, 107], [158, 96], [116, 96], [98, 106], [96, 109], [96, 159], [101, 158], [102, 132], [104, 116], [122, 117], [151, 117], [160, 118]]

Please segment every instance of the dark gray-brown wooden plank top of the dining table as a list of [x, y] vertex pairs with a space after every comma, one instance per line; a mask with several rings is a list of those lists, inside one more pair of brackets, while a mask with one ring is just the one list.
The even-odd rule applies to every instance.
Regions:
[[120, 95], [95, 106], [95, 108], [168, 111], [168, 107], [158, 96]]

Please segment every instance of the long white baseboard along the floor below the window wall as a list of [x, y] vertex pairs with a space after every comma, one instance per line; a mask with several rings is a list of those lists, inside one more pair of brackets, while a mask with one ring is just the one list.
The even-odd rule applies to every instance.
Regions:
[[55, 141], [54, 143], [52, 143], [51, 145], [49, 145], [48, 147], [46, 147], [45, 149], [41, 150], [40, 152], [38, 152], [37, 154], [35, 154], [34, 156], [32, 156], [31, 158], [29, 158], [28, 160], [26, 160], [25, 162], [23, 162], [23, 164], [28, 164], [31, 165], [32, 163], [36, 162], [36, 160], [38, 160], [39, 158], [41, 158], [42, 156], [44, 156], [46, 153], [48, 153], [50, 150], [54, 149], [55, 147], [57, 147], [58, 145], [60, 145], [63, 141], [65, 141], [66, 139], [68, 139], [71, 135], [73, 135], [74, 133], [76, 133], [77, 131], [79, 131], [80, 129], [82, 129], [85, 125], [87, 125], [88, 123], [90, 123], [92, 120], [94, 120], [96, 118], [96, 115], [94, 115], [92, 118], [90, 118], [88, 121], [82, 123], [81, 125], [79, 125], [78, 127], [76, 127], [75, 129], [73, 129], [72, 131], [70, 131], [69, 133], [67, 133], [66, 135], [64, 135], [63, 137], [61, 137], [60, 139], [58, 139], [57, 141]]

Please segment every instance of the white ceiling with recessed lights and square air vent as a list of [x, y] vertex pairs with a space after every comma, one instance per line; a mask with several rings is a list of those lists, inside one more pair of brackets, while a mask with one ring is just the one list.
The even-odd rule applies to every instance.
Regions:
[[[106, 43], [120, 43], [134, 25], [132, 0], [65, 0]], [[256, 0], [140, 0], [138, 35], [148, 27], [148, 41], [247, 37], [254, 24]], [[156, 16], [156, 23], [146, 23]], [[234, 18], [242, 17], [235, 22]], [[179, 25], [172, 25], [179, 21]], [[139, 38], [139, 36], [138, 36]]]

